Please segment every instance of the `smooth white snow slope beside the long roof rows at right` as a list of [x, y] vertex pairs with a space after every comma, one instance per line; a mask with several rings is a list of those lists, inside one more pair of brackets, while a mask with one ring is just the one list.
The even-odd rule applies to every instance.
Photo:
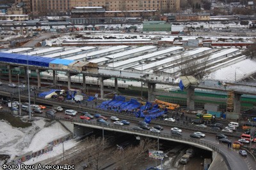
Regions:
[[[218, 69], [207, 75], [205, 79], [209, 80], [226, 80], [226, 81], [239, 81], [244, 77], [248, 77], [250, 74], [256, 72], [256, 61], [246, 59], [241, 62], [237, 62], [231, 66]], [[236, 76], [235, 76], [236, 74]]]

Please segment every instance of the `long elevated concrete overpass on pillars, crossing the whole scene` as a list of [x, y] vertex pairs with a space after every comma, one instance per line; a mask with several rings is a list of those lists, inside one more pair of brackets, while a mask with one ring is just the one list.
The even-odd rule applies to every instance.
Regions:
[[[20, 54], [13, 54], [13, 57], [17, 57], [17, 55], [20, 56]], [[28, 55], [22, 55], [23, 57], [28, 57]], [[0, 58], [4, 57], [4, 53], [0, 53]], [[28, 58], [27, 58], [28, 60]], [[61, 59], [60, 59], [61, 60]], [[68, 69], [67, 67], [54, 67], [50, 68], [49, 66], [38, 66], [33, 64], [33, 62], [29, 62], [28, 64], [24, 64], [26, 62], [22, 62], [22, 64], [14, 62], [13, 60], [0, 60], [0, 65], [7, 66], [8, 69], [8, 78], [9, 82], [12, 83], [12, 68], [13, 67], [24, 67], [25, 73], [27, 70], [27, 67], [29, 67], [30, 70], [35, 70], [37, 73], [37, 83], [38, 87], [41, 87], [41, 77], [40, 72], [52, 70], [52, 84], [54, 86], [57, 85], [58, 80], [56, 76], [56, 71], [65, 71], [67, 74], [67, 85], [68, 89], [71, 89], [71, 76], [75, 76], [77, 74], [83, 74], [83, 89], [86, 90], [86, 76], [92, 76], [99, 78], [99, 84], [100, 84], [100, 97], [104, 97], [104, 80], [108, 80], [109, 78], [115, 79], [115, 91], [118, 92], [118, 78], [120, 79], [126, 79], [126, 80], [135, 80], [135, 81], [141, 81], [141, 83], [144, 83], [145, 86], [148, 88], [148, 101], [154, 101], [156, 95], [162, 95], [162, 96], [170, 96], [170, 94], [166, 92], [157, 92], [156, 90], [156, 84], [157, 85], [170, 85], [170, 86], [178, 86], [178, 83], [175, 83], [175, 77], [172, 75], [159, 75], [159, 74], [148, 74], [143, 73], [143, 71], [124, 71], [124, 70], [116, 70], [116, 69], [106, 69], [104, 67], [97, 67], [97, 70], [93, 69], [85, 69], [84, 71], [81, 70], [74, 70], [74, 69]], [[24, 76], [26, 81], [28, 81], [28, 75], [20, 75]], [[241, 95], [242, 94], [250, 94], [250, 95], [256, 95], [255, 90], [255, 84], [253, 83], [239, 83], [239, 82], [223, 82], [224, 85], [205, 85], [204, 81], [200, 81], [199, 85], [191, 85], [188, 89], [187, 93], [187, 106], [191, 110], [195, 109], [195, 89], [205, 89], [205, 90], [217, 90], [217, 91], [224, 91], [224, 92], [232, 92], [234, 99], [232, 99], [233, 109], [231, 112], [234, 113], [241, 113]], [[207, 97], [204, 98], [207, 100]], [[208, 99], [208, 100], [212, 100]]]

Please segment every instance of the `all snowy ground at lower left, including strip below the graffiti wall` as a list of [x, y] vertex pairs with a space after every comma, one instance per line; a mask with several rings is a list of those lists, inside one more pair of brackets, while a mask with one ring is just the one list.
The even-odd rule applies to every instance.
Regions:
[[[54, 141], [54, 139], [69, 134], [69, 132], [58, 122], [55, 122], [49, 127], [44, 127], [44, 118], [33, 118], [35, 119], [32, 122], [33, 125], [24, 129], [12, 127], [12, 125], [4, 120], [0, 121], [0, 154], [10, 155], [11, 159], [13, 159], [15, 155], [22, 155], [30, 151], [36, 152], [47, 146], [47, 143]], [[76, 145], [76, 142], [72, 140], [66, 141], [65, 143], [67, 143], [67, 145], [65, 144], [65, 149]], [[35, 163], [36, 161], [58, 155], [60, 150], [62, 152], [62, 145], [61, 149], [59, 147], [59, 145], [56, 145], [51, 152], [45, 153], [33, 160], [28, 160], [28, 164], [29, 161]], [[0, 164], [3, 164], [3, 162], [0, 162]]]

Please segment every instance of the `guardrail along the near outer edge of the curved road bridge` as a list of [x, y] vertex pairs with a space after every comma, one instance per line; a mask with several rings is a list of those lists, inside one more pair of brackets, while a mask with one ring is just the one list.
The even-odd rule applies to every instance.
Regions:
[[221, 156], [223, 157], [223, 159], [225, 160], [225, 163], [227, 164], [228, 169], [231, 170], [230, 163], [227, 160], [227, 155], [225, 155], [225, 153], [221, 152], [221, 150], [219, 150], [218, 146], [213, 145], [211, 143], [208, 143], [206, 141], [201, 141], [201, 140], [193, 139], [193, 138], [185, 138], [185, 137], [180, 137], [180, 136], [172, 136], [172, 134], [167, 134], [167, 133], [154, 133], [154, 132], [150, 132], [150, 131], [139, 131], [139, 130], [132, 129], [131, 127], [125, 127], [125, 126], [120, 126], [120, 125], [111, 125], [111, 124], [105, 125], [105, 124], [100, 124], [99, 122], [92, 122], [92, 121], [86, 121], [86, 120], [67, 120], [65, 118], [46, 117], [46, 116], [43, 116], [43, 115], [41, 115], [40, 117], [50, 118], [52, 120], [65, 120], [65, 121], [68, 121], [68, 122], [77, 122], [77, 123], [81, 123], [81, 124], [96, 125], [96, 126], [102, 127], [102, 129], [104, 127], [107, 127], [107, 128], [111, 128], [111, 129], [122, 130], [124, 132], [125, 131], [136, 132], [136, 133], [144, 134], [145, 136], [155, 136], [155, 138], [161, 138], [162, 137], [162, 138], [170, 138], [170, 139], [176, 139], [176, 140], [180, 140], [180, 141], [195, 143], [195, 144], [198, 144], [198, 145], [205, 146], [207, 148], [211, 148], [215, 152], [220, 153]]

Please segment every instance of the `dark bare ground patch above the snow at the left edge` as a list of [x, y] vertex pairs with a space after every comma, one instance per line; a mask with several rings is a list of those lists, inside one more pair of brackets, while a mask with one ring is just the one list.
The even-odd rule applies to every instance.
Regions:
[[13, 127], [26, 128], [31, 126], [30, 122], [23, 122], [19, 117], [14, 117], [11, 113], [0, 112], [0, 120], [8, 121]]

